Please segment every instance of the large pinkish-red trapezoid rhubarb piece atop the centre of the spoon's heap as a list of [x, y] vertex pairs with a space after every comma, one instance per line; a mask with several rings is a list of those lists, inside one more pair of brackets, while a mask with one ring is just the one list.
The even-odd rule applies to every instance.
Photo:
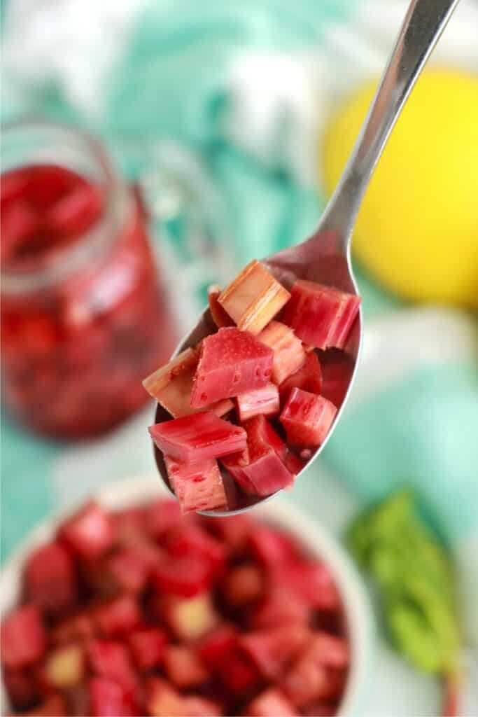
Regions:
[[191, 406], [206, 407], [265, 386], [272, 374], [274, 352], [249, 331], [220, 328], [201, 343], [193, 379]]

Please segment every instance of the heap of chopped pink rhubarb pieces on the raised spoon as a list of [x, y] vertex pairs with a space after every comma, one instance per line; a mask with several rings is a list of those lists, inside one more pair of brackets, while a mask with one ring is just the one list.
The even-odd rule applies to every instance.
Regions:
[[288, 290], [256, 260], [209, 289], [202, 335], [143, 381], [158, 402], [156, 461], [183, 513], [234, 513], [292, 486], [348, 393], [359, 308], [315, 282]]

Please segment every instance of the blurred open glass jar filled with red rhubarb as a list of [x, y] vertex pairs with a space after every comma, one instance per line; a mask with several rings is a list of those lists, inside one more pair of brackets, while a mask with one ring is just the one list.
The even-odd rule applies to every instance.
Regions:
[[45, 435], [92, 437], [145, 403], [175, 343], [146, 212], [70, 128], [9, 125], [2, 155], [4, 403]]

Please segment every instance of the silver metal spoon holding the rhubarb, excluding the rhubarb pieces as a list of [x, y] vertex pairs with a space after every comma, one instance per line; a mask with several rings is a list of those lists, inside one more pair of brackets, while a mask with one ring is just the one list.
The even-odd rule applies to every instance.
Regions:
[[[358, 293], [350, 264], [350, 242], [358, 209], [393, 125], [457, 4], [458, 0], [411, 1], [396, 46], [383, 73], [360, 135], [338, 186], [325, 207], [315, 234], [302, 244], [278, 252], [264, 260], [276, 278], [287, 288], [295, 279], [307, 279], [349, 293]], [[201, 338], [214, 331], [216, 326], [211, 320], [209, 309], [206, 309], [195, 328], [179, 343], [173, 356], [188, 346], [195, 346]], [[350, 371], [347, 376], [348, 386], [345, 386], [343, 391], [343, 401], [327, 439], [312, 456], [307, 467], [320, 454], [343, 412], [355, 378], [362, 332], [363, 316], [360, 312], [345, 347], [345, 353], [350, 361]], [[156, 423], [168, 419], [171, 419], [170, 414], [158, 405]], [[156, 447], [155, 456], [161, 478], [168, 490], [173, 493], [168, 482], [163, 455]], [[235, 490], [234, 482], [226, 473], [224, 473], [224, 484], [230, 500], [229, 504], [234, 508], [230, 511], [204, 511], [205, 515], [219, 517], [242, 513], [253, 505], [272, 498], [272, 495], [266, 498], [259, 495], [239, 495]]]

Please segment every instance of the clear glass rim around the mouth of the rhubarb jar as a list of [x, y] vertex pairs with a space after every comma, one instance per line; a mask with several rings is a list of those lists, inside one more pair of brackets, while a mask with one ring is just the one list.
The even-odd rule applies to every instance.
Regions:
[[[127, 211], [128, 193], [125, 183], [116, 171], [102, 143], [90, 133], [74, 125], [53, 122], [44, 118], [22, 118], [1, 124], [2, 143], [14, 132], [39, 131], [59, 136], [60, 141], [77, 143], [90, 154], [92, 161], [100, 168], [105, 185], [105, 203], [102, 214], [95, 224], [81, 234], [75, 242], [59, 247], [42, 264], [27, 268], [14, 266], [1, 267], [1, 292], [6, 294], [24, 294], [51, 288], [55, 284], [81, 272], [112, 246], [115, 237], [123, 226]], [[32, 165], [34, 165], [34, 161]], [[44, 163], [44, 161], [42, 161]], [[21, 166], [21, 165], [19, 165]], [[58, 166], [62, 166], [58, 162]], [[14, 167], [12, 167], [14, 168]], [[9, 168], [4, 168], [9, 171]]]

